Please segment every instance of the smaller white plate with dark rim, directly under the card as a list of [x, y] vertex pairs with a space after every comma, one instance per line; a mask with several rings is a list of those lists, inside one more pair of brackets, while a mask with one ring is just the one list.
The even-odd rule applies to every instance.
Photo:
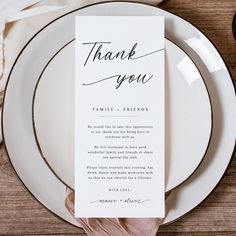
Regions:
[[[75, 49], [71, 40], [50, 59], [40, 75], [33, 98], [33, 121], [42, 156], [56, 176], [74, 189]], [[194, 63], [167, 39], [165, 47], [165, 179], [166, 191], [169, 191], [199, 166], [210, 141], [212, 117], [207, 89]]]

